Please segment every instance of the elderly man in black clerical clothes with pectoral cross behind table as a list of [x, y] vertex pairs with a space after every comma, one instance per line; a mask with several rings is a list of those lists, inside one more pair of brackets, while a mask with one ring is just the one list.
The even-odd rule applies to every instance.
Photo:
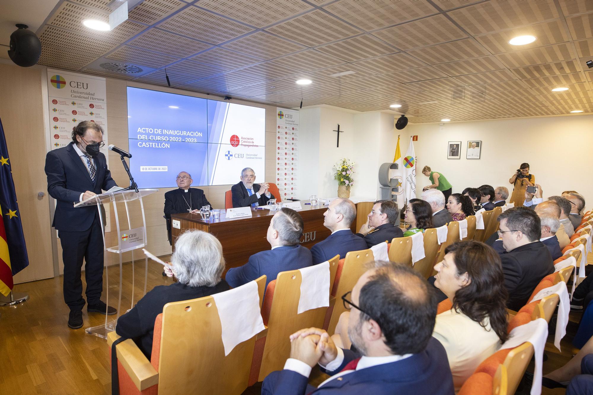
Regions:
[[167, 221], [167, 235], [169, 244], [171, 244], [171, 214], [182, 212], [192, 212], [199, 210], [203, 206], [211, 206], [204, 191], [197, 188], [190, 188], [192, 185], [192, 176], [187, 171], [181, 171], [177, 174], [177, 189], [165, 193], [165, 218]]

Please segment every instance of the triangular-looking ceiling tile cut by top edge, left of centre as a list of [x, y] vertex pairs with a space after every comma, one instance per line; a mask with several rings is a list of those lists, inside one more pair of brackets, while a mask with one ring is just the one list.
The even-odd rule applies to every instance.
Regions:
[[196, 5], [258, 28], [312, 8], [301, 0], [202, 0]]

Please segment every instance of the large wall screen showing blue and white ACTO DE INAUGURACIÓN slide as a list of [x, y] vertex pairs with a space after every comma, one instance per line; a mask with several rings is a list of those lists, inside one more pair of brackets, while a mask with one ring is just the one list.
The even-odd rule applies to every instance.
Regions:
[[266, 110], [227, 101], [127, 88], [130, 170], [141, 188], [239, 181], [251, 167], [264, 179]]

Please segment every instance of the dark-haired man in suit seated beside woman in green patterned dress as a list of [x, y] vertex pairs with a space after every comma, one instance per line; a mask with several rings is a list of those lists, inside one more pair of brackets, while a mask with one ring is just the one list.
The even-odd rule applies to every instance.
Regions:
[[396, 237], [402, 237], [403, 231], [397, 226], [400, 223], [400, 212], [393, 200], [377, 200], [369, 212], [366, 224], [356, 234], [363, 237], [366, 247], [371, 248], [379, 243], [391, 243]]

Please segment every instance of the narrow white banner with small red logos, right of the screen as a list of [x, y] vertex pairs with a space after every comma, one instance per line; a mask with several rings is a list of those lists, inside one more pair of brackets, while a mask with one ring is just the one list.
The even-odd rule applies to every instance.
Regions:
[[282, 200], [298, 195], [298, 110], [276, 108], [276, 184]]

